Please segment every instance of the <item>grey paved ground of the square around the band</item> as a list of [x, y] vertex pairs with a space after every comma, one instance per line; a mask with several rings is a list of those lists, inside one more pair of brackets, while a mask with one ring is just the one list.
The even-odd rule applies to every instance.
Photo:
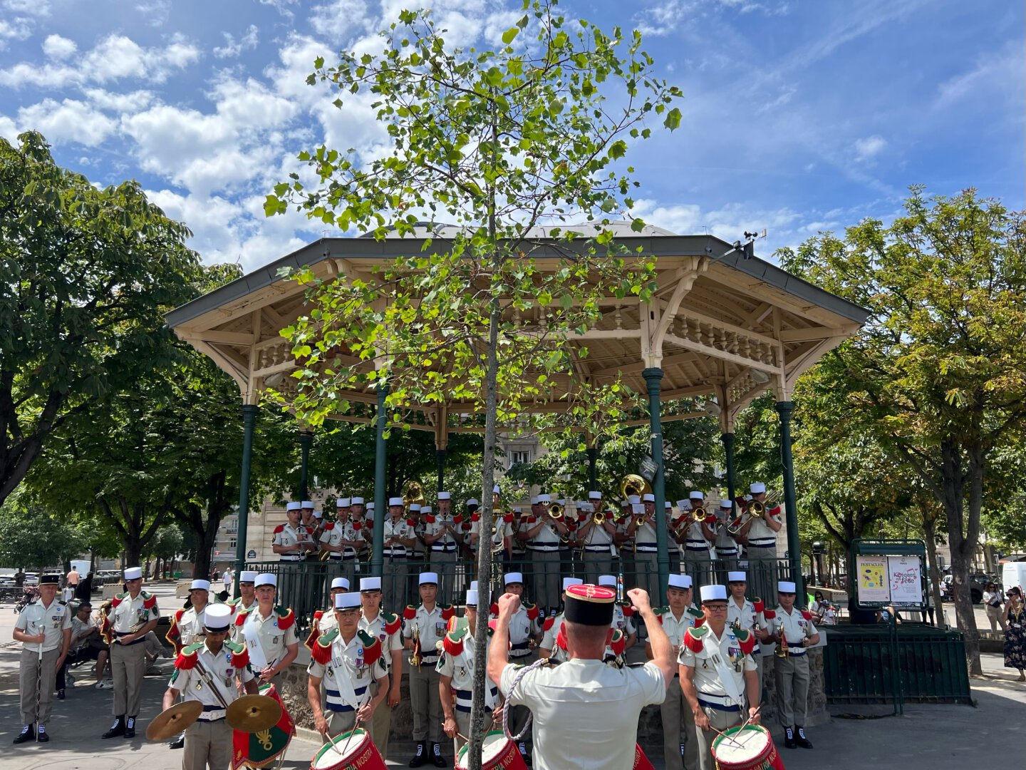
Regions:
[[[161, 587], [160, 593], [169, 589]], [[165, 606], [174, 606], [168, 599]], [[981, 625], [986, 620], [979, 613]], [[51, 740], [45, 744], [12, 746], [19, 725], [17, 714], [17, 648], [9, 642], [16, 616], [9, 605], [0, 606], [0, 768], [34, 770], [172, 770], [181, 767], [182, 755], [165, 744], [148, 743], [143, 736], [131, 741], [101, 740], [111, 721], [111, 693], [100, 691], [91, 679], [80, 679], [82, 687], [68, 691], [65, 701], [55, 701], [49, 724]], [[147, 677], [142, 728], [160, 710], [171, 661], [159, 663], [161, 676]], [[1021, 767], [1022, 735], [1026, 724], [1026, 684], [1015, 683], [1016, 672], [1002, 667], [1000, 655], [984, 655], [985, 675], [973, 680], [977, 705], [910, 705], [904, 716], [890, 716], [890, 707], [832, 709], [830, 724], [815, 728], [810, 737], [814, 750], [786, 750], [788, 770], [876, 767], [919, 768], [972, 767], [981, 760], [990, 765]], [[84, 675], [83, 675], [84, 677]], [[858, 714], [856, 714], [858, 711]], [[862, 717], [862, 718], [855, 718]], [[392, 745], [389, 767], [404, 767], [411, 743]], [[293, 739], [284, 768], [308, 768], [317, 743], [307, 734]], [[657, 768], [662, 758], [649, 756]], [[597, 769], [596, 769], [597, 770]], [[616, 769], [614, 769], [616, 770]]]

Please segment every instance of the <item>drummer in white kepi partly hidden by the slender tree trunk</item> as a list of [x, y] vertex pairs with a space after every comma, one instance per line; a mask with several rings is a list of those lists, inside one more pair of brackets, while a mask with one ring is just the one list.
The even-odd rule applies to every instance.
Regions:
[[[442, 730], [457, 740], [461, 748], [470, 735], [470, 709], [474, 689], [474, 633], [477, 629], [477, 590], [467, 591], [467, 625], [450, 630], [442, 640], [442, 651], [438, 656], [438, 694], [441, 699], [445, 721]], [[499, 699], [495, 683], [486, 681], [487, 692], [484, 707], [492, 714]], [[485, 730], [488, 721], [485, 720]]]

